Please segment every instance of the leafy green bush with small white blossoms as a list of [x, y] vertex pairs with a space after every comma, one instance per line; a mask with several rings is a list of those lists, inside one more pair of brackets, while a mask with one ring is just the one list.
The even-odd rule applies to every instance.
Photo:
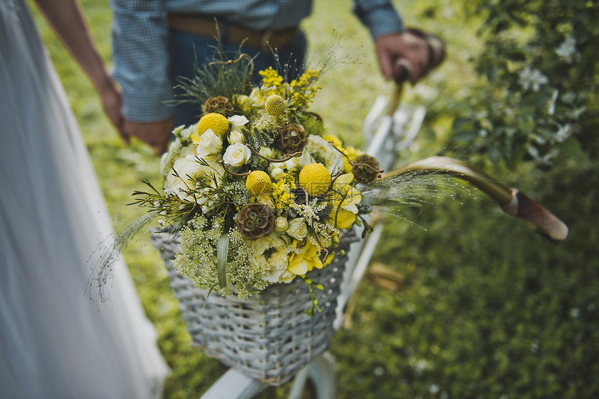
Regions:
[[472, 145], [493, 163], [580, 157], [596, 139], [599, 3], [517, 0], [470, 3], [484, 18], [483, 77], [453, 120], [453, 144]]

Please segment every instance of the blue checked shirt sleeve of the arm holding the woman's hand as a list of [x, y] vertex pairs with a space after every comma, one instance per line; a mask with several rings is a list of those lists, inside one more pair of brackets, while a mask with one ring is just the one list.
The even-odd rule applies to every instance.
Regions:
[[169, 118], [168, 26], [163, 0], [111, 0], [114, 79], [123, 116], [134, 122]]

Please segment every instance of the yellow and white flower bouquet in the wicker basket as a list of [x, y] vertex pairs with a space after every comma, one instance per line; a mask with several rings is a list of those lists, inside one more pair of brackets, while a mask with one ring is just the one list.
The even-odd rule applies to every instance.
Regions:
[[162, 157], [164, 189], [146, 182], [137, 203], [176, 226], [175, 267], [199, 288], [238, 298], [296, 278], [321, 288], [309, 272], [332, 262], [345, 230], [369, 228], [360, 186], [380, 177], [378, 161], [309, 111], [322, 70], [286, 81], [268, 68], [248, 87], [242, 68], [216, 67], [228, 71], [214, 80], [215, 91], [231, 83], [226, 95], [203, 93], [203, 116], [177, 127]]

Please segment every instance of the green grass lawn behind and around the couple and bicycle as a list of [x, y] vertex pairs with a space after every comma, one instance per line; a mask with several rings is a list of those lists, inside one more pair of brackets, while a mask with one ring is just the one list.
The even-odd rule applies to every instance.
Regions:
[[[107, 1], [82, 2], [102, 56], [110, 64]], [[460, 0], [396, 1], [408, 25], [439, 33], [449, 58], [406, 101], [430, 110], [414, 152], [400, 163], [434, 154], [450, 134], [439, 104], [467, 104], [476, 56], [476, 20]], [[351, 14], [351, 1], [316, 0], [304, 29], [313, 54], [332, 36], [348, 65], [322, 77], [313, 110], [345, 141], [361, 143], [361, 123], [392, 85], [378, 72], [373, 45]], [[160, 159], [134, 142], [125, 147], [103, 116], [98, 97], [36, 13], [42, 37], [69, 95], [115, 224], [139, 210], [125, 205], [160, 185]], [[342, 63], [343, 64], [343, 63]], [[468, 158], [468, 149], [456, 149]], [[373, 258], [401, 277], [398, 290], [367, 275], [355, 297], [352, 327], [334, 336], [339, 398], [596, 398], [599, 397], [598, 187], [596, 159], [563, 159], [551, 171], [522, 166], [488, 170], [522, 189], [570, 226], [556, 245], [506, 216], [482, 194], [406, 210], [409, 224], [389, 218]], [[419, 227], [421, 226], [421, 227]], [[219, 361], [191, 345], [157, 251], [139, 242], [126, 253], [148, 318], [172, 373], [165, 397], [196, 398], [224, 373]], [[81, 298], [84, 300], [84, 298]], [[289, 384], [263, 398], [285, 398]]]

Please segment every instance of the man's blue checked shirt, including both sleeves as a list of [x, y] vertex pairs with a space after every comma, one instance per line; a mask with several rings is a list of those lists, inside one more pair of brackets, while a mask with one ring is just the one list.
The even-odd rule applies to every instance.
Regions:
[[[353, 0], [354, 13], [373, 39], [402, 32], [390, 0]], [[111, 0], [114, 79], [123, 88], [123, 115], [135, 122], [171, 116], [167, 49], [168, 13], [210, 15], [256, 31], [299, 26], [311, 0]]]

